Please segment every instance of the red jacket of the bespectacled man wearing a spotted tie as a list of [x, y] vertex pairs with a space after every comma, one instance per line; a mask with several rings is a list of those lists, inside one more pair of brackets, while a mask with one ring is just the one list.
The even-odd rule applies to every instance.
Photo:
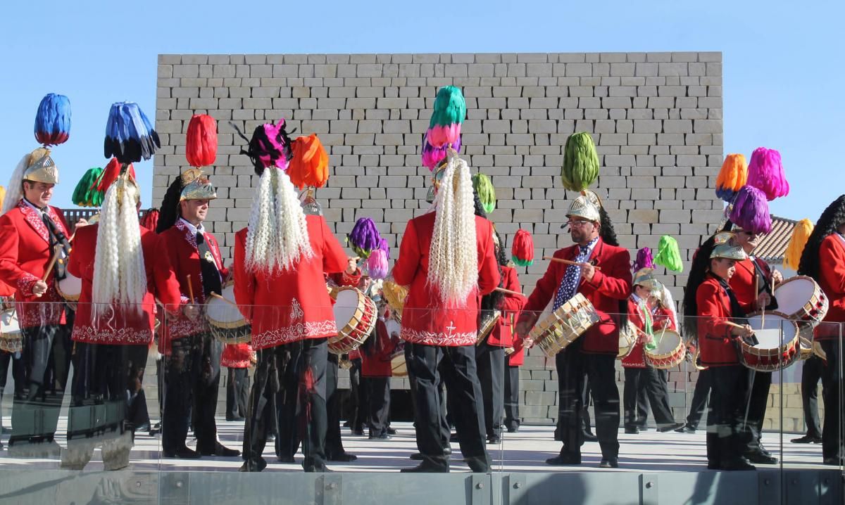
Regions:
[[[578, 257], [578, 244], [558, 249], [554, 258], [574, 260]], [[592, 280], [581, 279], [578, 293], [581, 293], [596, 308], [600, 321], [581, 335], [582, 350], [591, 354], [619, 354], [619, 329], [612, 314], [619, 314], [619, 301], [625, 301], [631, 292], [630, 253], [624, 247], [611, 246], [601, 238], [590, 255], [597, 267]], [[569, 265], [556, 261], [548, 263], [548, 269], [534, 288], [528, 303], [522, 308], [520, 320], [536, 323], [542, 310], [557, 294], [560, 283]], [[623, 306], [624, 307], [624, 306]], [[625, 310], [624, 308], [622, 310]]]

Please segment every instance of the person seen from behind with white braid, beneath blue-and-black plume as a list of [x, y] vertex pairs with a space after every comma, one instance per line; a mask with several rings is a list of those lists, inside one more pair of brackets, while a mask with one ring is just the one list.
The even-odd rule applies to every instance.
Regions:
[[[106, 190], [101, 220], [77, 231], [68, 272], [82, 280], [74, 321], [73, 399], [62, 466], [81, 470], [102, 443], [106, 470], [128, 465], [135, 410], [155, 325], [155, 299], [180, 305], [161, 238], [138, 224], [140, 192], [124, 173]], [[131, 223], [125, 225], [125, 223]], [[145, 409], [145, 405], [143, 406]]]

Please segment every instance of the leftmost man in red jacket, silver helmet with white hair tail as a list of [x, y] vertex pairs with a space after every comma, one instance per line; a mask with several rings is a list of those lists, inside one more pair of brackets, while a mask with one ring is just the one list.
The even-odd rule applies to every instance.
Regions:
[[[38, 453], [58, 452], [53, 435], [68, 379], [69, 332], [56, 282], [65, 275], [70, 244], [61, 211], [49, 205], [57, 182], [49, 149], [25, 155], [9, 182], [0, 217], [0, 281], [15, 289], [24, 340], [24, 392], [15, 395], [9, 437], [9, 450], [20, 455], [29, 452], [27, 446]], [[61, 259], [45, 278], [54, 255]], [[47, 387], [49, 377], [59, 385], [55, 394]]]

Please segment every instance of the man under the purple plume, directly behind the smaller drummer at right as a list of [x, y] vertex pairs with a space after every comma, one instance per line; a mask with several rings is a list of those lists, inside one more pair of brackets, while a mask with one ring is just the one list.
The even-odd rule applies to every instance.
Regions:
[[[730, 228], [730, 225], [726, 227]], [[743, 230], [733, 225], [734, 240], [742, 247], [746, 258], [736, 263], [736, 273], [731, 277], [730, 285], [739, 301], [739, 307], [747, 314], [761, 310], [777, 310], [777, 300], [774, 296], [774, 286], [780, 284], [783, 276], [768, 263], [751, 255], [760, 242], [760, 234], [751, 230]], [[757, 290], [755, 292], [755, 290]], [[752, 372], [750, 384], [750, 399], [748, 405], [748, 426], [751, 440], [745, 448], [745, 459], [751, 463], [776, 464], [777, 458], [771, 455], [760, 442], [763, 431], [763, 419], [766, 417], [766, 404], [771, 387], [771, 372]]]

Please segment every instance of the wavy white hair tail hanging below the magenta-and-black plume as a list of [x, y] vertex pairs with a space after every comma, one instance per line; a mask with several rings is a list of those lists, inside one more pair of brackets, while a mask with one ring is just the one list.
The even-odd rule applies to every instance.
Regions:
[[259, 179], [247, 227], [245, 266], [250, 272], [292, 269], [300, 258], [312, 258], [308, 223], [291, 178], [270, 166]]

